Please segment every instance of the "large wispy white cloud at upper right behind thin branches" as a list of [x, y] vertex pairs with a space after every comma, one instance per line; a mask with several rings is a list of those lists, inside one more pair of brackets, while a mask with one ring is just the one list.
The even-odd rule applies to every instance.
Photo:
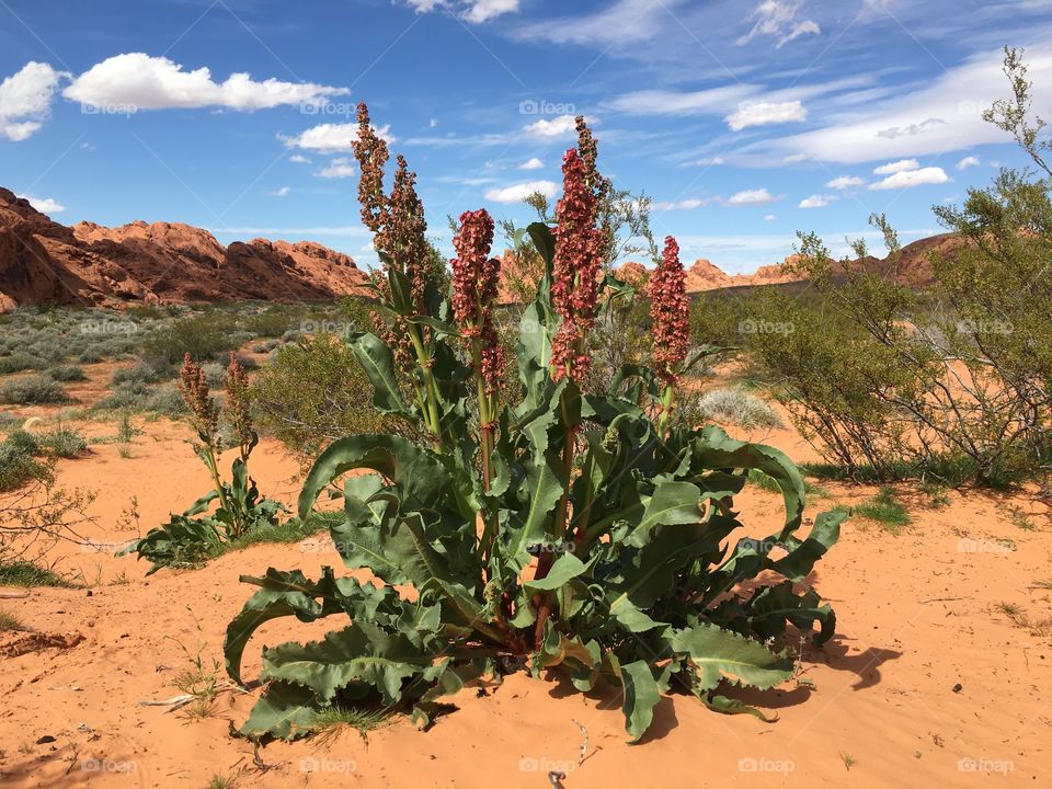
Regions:
[[[1008, 88], [1002, 72], [1003, 59], [999, 50], [980, 53], [913, 90], [901, 90], [880, 101], [860, 102], [849, 111], [826, 115], [824, 128], [785, 137], [774, 145], [757, 144], [755, 149], [769, 152], [768, 161], [781, 160], [786, 155], [805, 155], [817, 161], [857, 164], [1008, 142], [1010, 138], [1003, 130], [982, 118], [983, 110], [1004, 98]], [[1028, 78], [1034, 84], [1052, 84], [1052, 53], [1034, 47], [1027, 53], [1027, 66]], [[1052, 116], [1052, 91], [1034, 92], [1033, 113]], [[926, 124], [933, 119], [946, 123]], [[916, 134], [888, 135], [888, 129], [913, 127]]]

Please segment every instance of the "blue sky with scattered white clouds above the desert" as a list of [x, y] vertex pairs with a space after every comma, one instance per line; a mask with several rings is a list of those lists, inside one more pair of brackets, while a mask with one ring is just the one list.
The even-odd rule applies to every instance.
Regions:
[[689, 263], [744, 272], [797, 230], [904, 240], [1022, 159], [980, 113], [1028, 48], [1052, 116], [1052, 1], [0, 0], [0, 185], [65, 224], [312, 239], [369, 265], [350, 151], [369, 103], [447, 215], [601, 165]]

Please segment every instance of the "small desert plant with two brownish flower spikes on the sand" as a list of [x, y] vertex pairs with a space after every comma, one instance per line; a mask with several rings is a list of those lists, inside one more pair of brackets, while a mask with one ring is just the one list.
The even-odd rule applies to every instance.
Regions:
[[[236, 540], [256, 526], [273, 526], [285, 512], [279, 502], [261, 496], [255, 480], [249, 476], [249, 457], [260, 437], [252, 427], [248, 378], [233, 353], [227, 367], [226, 386], [226, 408], [220, 409], [208, 389], [204, 369], [186, 354], [179, 388], [197, 434], [194, 451], [208, 468], [213, 489], [182, 515], [173, 514], [167, 524], [119, 551], [118, 556], [137, 553], [150, 561], [152, 567], [147, 574], [164, 567], [198, 564], [214, 556], [224, 541]], [[219, 473], [219, 454], [224, 446], [221, 415], [229, 422], [238, 449], [229, 482]], [[216, 501], [218, 507], [209, 514]]]

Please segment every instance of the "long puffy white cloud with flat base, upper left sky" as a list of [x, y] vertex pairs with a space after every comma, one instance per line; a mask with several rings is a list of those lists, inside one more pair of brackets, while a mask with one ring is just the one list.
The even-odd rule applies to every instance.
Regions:
[[328, 96], [345, 95], [346, 88], [312, 82], [258, 82], [247, 72], [215, 82], [207, 68], [184, 71], [165, 57], [128, 53], [95, 64], [77, 77], [62, 95], [92, 107], [132, 106], [138, 110], [221, 106], [264, 110], [286, 104], [324, 104]]

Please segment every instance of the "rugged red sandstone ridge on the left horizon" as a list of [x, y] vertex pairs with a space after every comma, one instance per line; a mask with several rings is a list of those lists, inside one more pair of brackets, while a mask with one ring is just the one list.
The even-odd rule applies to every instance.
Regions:
[[354, 261], [309, 241], [229, 247], [188, 225], [68, 228], [0, 188], [0, 310], [41, 302], [321, 301], [359, 293]]

